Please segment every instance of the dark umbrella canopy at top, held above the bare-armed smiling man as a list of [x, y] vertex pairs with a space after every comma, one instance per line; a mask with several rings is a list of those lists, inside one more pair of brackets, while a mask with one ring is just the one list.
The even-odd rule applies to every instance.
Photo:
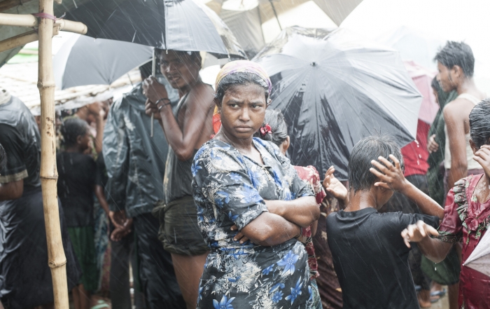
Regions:
[[93, 0], [66, 18], [85, 23], [94, 38], [246, 57], [218, 15], [193, 0]]

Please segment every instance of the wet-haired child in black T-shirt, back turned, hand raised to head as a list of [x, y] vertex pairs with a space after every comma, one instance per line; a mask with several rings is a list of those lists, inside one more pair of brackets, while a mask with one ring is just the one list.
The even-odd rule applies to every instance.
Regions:
[[[344, 309], [419, 308], [401, 232], [419, 220], [437, 227], [444, 210], [403, 177], [402, 162], [400, 148], [386, 136], [362, 139], [351, 152], [349, 192], [340, 196], [346, 208], [327, 218]], [[323, 182], [328, 192], [339, 191], [329, 190], [329, 183]], [[395, 190], [428, 215], [377, 212]]]

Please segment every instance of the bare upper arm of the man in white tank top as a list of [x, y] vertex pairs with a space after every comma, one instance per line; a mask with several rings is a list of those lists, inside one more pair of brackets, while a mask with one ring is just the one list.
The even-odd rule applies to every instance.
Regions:
[[449, 188], [461, 178], [468, 176], [468, 159], [466, 158], [466, 137], [464, 113], [458, 110], [458, 105], [444, 107], [444, 121], [447, 126], [449, 151], [451, 152], [451, 170], [447, 177]]

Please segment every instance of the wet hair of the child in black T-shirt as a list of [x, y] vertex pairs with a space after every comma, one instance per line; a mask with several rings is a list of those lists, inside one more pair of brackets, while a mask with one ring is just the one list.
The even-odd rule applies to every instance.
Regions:
[[381, 156], [393, 163], [393, 160], [388, 158], [391, 154], [400, 161], [402, 170], [405, 170], [400, 147], [389, 135], [365, 137], [353, 147], [349, 158], [349, 186], [353, 188], [354, 193], [367, 191], [376, 182], [377, 177], [370, 172], [370, 168], [374, 167], [371, 160], [379, 161], [378, 157]]

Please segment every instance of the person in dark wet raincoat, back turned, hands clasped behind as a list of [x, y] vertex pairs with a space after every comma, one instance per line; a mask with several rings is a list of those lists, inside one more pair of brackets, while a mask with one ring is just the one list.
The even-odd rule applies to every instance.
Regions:
[[[151, 75], [151, 63], [139, 69], [142, 79]], [[172, 102], [178, 99], [174, 92], [168, 97]], [[162, 248], [157, 237], [160, 224], [151, 214], [155, 202], [164, 197], [163, 160], [168, 144], [161, 131], [150, 137], [151, 118], [145, 114], [145, 102], [140, 83], [112, 104], [104, 130], [103, 152], [108, 176], [106, 199], [111, 222], [120, 232], [119, 236], [116, 236], [118, 231], [111, 236], [114, 240], [111, 242], [112, 306], [131, 308], [128, 271], [132, 234], [125, 234], [133, 230], [134, 251], [139, 264], [133, 271], [138, 271], [136, 277], [146, 298], [146, 308], [181, 309], [185, 308], [185, 303], [174, 274], [172, 256]]]

